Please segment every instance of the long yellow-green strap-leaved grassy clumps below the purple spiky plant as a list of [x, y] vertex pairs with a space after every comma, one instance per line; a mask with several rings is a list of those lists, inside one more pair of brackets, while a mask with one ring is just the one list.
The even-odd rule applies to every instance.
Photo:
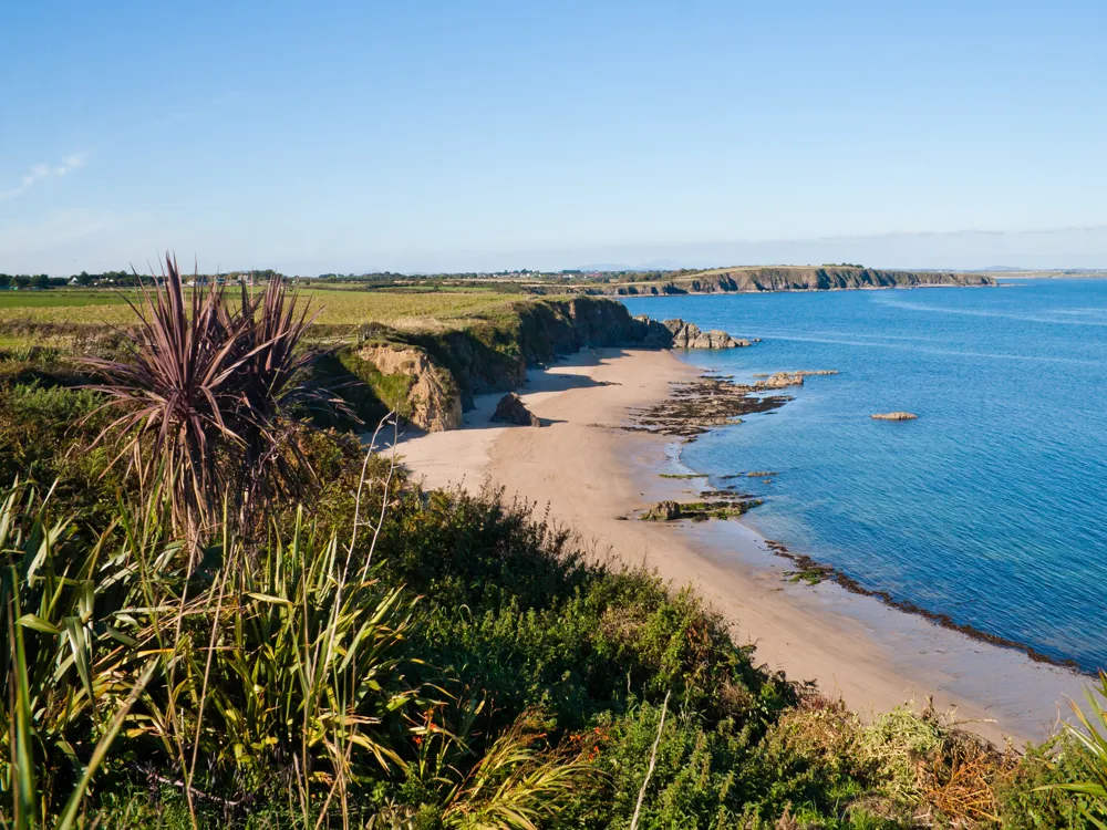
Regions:
[[445, 827], [531, 830], [602, 781], [526, 717], [478, 750], [479, 696], [410, 678], [416, 598], [374, 575], [375, 532], [343, 542], [300, 510], [251, 557], [225, 523], [192, 567], [167, 512], [121, 506], [92, 536], [51, 508], [27, 486], [0, 506], [0, 816], [17, 828], [92, 819], [135, 774], [179, 792], [193, 827], [262, 793], [291, 799], [296, 827], [358, 823], [366, 782], [406, 778]]

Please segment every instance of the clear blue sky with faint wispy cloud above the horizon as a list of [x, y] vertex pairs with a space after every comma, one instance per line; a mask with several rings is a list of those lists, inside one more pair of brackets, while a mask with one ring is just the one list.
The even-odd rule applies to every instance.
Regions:
[[1103, 0], [169, 6], [0, 3], [0, 271], [1107, 266]]

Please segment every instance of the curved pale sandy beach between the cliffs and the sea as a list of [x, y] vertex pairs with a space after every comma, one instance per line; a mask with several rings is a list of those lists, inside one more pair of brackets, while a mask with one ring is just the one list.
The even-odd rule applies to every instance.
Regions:
[[670, 383], [697, 375], [670, 352], [584, 350], [528, 374], [520, 395], [544, 428], [489, 424], [500, 395], [484, 395], [462, 429], [410, 438], [400, 452], [428, 487], [504, 487], [548, 505], [594, 556], [644, 562], [674, 585], [691, 584], [739, 642], [756, 645], [757, 662], [817, 682], [862, 716], [933, 698], [996, 743], [1046, 738], [1088, 678], [832, 583], [789, 582], [790, 563], [737, 521], [633, 519], [661, 499], [687, 499], [695, 483], [659, 475], [680, 470], [671, 438], [614, 426], [665, 397]]

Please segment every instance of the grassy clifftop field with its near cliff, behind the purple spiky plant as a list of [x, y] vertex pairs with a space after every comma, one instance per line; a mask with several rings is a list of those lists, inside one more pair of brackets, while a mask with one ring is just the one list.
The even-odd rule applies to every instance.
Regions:
[[[473, 395], [517, 388], [528, 365], [582, 345], [650, 338], [649, 328], [622, 304], [599, 297], [528, 297], [484, 287], [310, 287], [300, 293], [315, 314], [309, 334], [314, 342], [308, 345], [321, 351], [317, 380], [339, 385], [340, 396], [364, 423], [394, 408], [420, 426], [452, 428]], [[0, 347], [15, 357], [43, 346], [59, 355], [110, 350], [117, 330], [133, 323], [127, 301], [136, 299], [133, 289], [0, 294]], [[228, 302], [237, 304], [236, 289], [228, 290]], [[9, 362], [9, 371], [15, 363]], [[59, 364], [51, 372], [66, 370]], [[355, 424], [333, 414], [320, 418], [335, 426]]]

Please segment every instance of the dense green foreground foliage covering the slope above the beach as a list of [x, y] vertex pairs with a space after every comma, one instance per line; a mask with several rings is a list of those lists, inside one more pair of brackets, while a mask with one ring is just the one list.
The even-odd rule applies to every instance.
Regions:
[[0, 361], [0, 826], [1103, 821], [1098, 704], [1024, 757], [930, 710], [865, 724], [691, 591], [334, 433], [282, 438], [310, 508], [187, 539], [89, 450], [104, 398], [70, 371]]

